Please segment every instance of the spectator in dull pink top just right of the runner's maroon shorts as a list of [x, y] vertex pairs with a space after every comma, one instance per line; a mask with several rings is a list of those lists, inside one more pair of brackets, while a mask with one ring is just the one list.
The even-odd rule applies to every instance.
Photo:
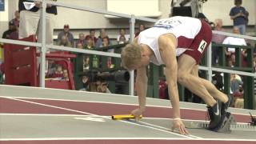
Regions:
[[[222, 29], [222, 19], [216, 19], [215, 22], [214, 22], [214, 25], [215, 25], [214, 30], [223, 31], [223, 29]], [[225, 35], [213, 34], [212, 42], [222, 44], [222, 42], [225, 38], [226, 38]], [[219, 54], [220, 54], [221, 49], [222, 49], [222, 47], [220, 47], [220, 46], [218, 46], [218, 47], [213, 46], [212, 47], [212, 62], [213, 62], [213, 65], [218, 64], [218, 58], [219, 58]]]

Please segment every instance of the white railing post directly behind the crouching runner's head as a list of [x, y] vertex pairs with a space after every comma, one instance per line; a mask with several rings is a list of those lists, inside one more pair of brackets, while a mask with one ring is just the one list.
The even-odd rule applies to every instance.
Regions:
[[[134, 14], [130, 18], [130, 42], [134, 40], [135, 31], [135, 17]], [[129, 94], [134, 95], [134, 70], [130, 71], [130, 81], [129, 81]]]

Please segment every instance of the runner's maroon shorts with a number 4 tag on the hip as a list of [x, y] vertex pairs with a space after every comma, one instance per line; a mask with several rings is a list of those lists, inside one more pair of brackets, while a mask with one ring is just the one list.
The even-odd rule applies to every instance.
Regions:
[[193, 42], [191, 43], [190, 50], [186, 50], [183, 54], [188, 54], [199, 64], [201, 58], [205, 51], [207, 50], [208, 46], [210, 45], [211, 38], [212, 38], [212, 31], [210, 25], [205, 22], [202, 22], [201, 30], [199, 31], [198, 35], [194, 37]]

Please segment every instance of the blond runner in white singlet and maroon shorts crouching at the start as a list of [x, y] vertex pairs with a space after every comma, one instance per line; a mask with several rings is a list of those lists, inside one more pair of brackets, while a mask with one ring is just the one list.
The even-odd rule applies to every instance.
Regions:
[[211, 38], [212, 32], [206, 22], [177, 16], [160, 19], [152, 28], [142, 31], [134, 42], [126, 45], [121, 54], [122, 66], [128, 70], [137, 70], [139, 107], [131, 113], [138, 118], [146, 110], [146, 66], [150, 62], [155, 65], [164, 64], [174, 111], [172, 130], [178, 129], [180, 134], [188, 134], [179, 110], [179, 82], [206, 102], [210, 114], [209, 130], [218, 131], [226, 117], [230, 100], [211, 82], [198, 77], [198, 63]]

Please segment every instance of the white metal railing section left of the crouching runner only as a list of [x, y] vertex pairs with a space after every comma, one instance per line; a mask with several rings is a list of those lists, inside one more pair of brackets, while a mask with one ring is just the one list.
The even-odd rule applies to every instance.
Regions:
[[[34, 0], [31, 0], [34, 2]], [[21, 42], [18, 40], [8, 40], [4, 38], [0, 38], [0, 42], [3, 43], [12, 43], [12, 44], [18, 44], [18, 45], [24, 45], [24, 46], [37, 46], [38, 48], [41, 48], [41, 64], [40, 64], [40, 86], [45, 87], [45, 65], [46, 65], [46, 51], [47, 49], [54, 49], [54, 50], [66, 50], [71, 52], [78, 52], [83, 54], [98, 54], [98, 55], [105, 55], [110, 57], [117, 57], [121, 58], [120, 54], [113, 54], [113, 53], [107, 53], [107, 52], [100, 52], [100, 51], [93, 51], [93, 50], [79, 50], [74, 49], [71, 47], [63, 47], [63, 46], [54, 46], [54, 45], [47, 45], [46, 44], [46, 4], [51, 4], [54, 6], [62, 6], [74, 10], [84, 10], [92, 13], [97, 14], [108, 14], [113, 15], [121, 18], [129, 18], [130, 19], [130, 42], [134, 40], [134, 29], [135, 29], [135, 22], [136, 20], [145, 21], [145, 22], [156, 22], [156, 19], [153, 18], [143, 18], [143, 17], [137, 17], [130, 14], [121, 14], [121, 13], [115, 13], [107, 10], [100, 10], [100, 9], [92, 9], [90, 7], [86, 6], [75, 6], [71, 4], [66, 4], [62, 2], [52, 2], [48, 0], [37, 0], [38, 2], [42, 2], [42, 9], [41, 9], [41, 26], [42, 26], [42, 43], [39, 42]], [[130, 72], [130, 82], [129, 82], [129, 94], [134, 95], [134, 71]]]

